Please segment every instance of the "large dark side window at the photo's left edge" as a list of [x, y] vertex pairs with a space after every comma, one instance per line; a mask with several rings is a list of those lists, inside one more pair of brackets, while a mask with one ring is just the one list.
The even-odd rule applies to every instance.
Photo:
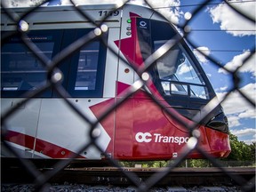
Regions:
[[[40, 33], [29, 34], [29, 39], [36, 44], [41, 53], [51, 59], [53, 52], [60, 48], [58, 47], [60, 32]], [[20, 38], [12, 37], [1, 48], [1, 91], [3, 97], [20, 97], [25, 92], [36, 90], [46, 84], [44, 66], [21, 42]], [[52, 92], [45, 92], [44, 96], [52, 96]]]

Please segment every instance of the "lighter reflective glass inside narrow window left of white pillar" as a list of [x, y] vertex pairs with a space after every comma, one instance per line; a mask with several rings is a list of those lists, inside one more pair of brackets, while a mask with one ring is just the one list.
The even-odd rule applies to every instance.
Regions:
[[82, 48], [79, 55], [75, 90], [95, 90], [100, 42]]

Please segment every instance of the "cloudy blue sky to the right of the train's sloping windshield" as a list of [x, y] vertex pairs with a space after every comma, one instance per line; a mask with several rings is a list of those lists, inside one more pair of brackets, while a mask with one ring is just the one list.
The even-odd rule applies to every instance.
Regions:
[[[180, 1], [180, 10], [193, 12], [196, 6], [187, 5], [200, 2], [202, 1]], [[255, 2], [237, 2], [230, 1], [230, 4], [239, 6], [246, 12], [251, 10], [251, 15], [255, 18]], [[188, 24], [191, 28], [188, 41], [196, 44], [196, 47], [201, 47], [201, 50], [231, 71], [243, 63], [249, 56], [249, 51], [255, 49], [255, 25], [241, 19], [227, 4], [220, 1], [212, 1], [206, 5]], [[232, 76], [202, 56], [201, 59], [199, 56], [199, 60], [221, 100], [233, 87]], [[255, 55], [243, 65], [244, 67], [239, 69], [239, 88], [255, 102]], [[252, 108], [238, 92], [232, 92], [222, 107], [228, 115], [230, 131], [246, 143], [255, 141], [255, 108]]]

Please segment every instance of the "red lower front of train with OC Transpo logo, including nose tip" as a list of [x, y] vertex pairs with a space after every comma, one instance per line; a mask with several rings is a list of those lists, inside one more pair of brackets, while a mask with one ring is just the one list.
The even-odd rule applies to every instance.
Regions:
[[[182, 120], [191, 124], [185, 117]], [[228, 154], [227, 134], [203, 125], [198, 127], [198, 131], [201, 135], [198, 145], [205, 152], [216, 157]], [[118, 159], [154, 160], [170, 159], [174, 154], [180, 156], [188, 137], [188, 130], [164, 114], [162, 108], [149, 98], [139, 99], [135, 94], [116, 110], [115, 157]], [[201, 157], [204, 156], [197, 151], [188, 156]]]

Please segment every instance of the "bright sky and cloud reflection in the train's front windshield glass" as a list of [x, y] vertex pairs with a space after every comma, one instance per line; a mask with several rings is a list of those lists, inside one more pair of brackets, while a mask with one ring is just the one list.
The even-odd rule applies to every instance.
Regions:
[[[155, 50], [165, 42], [155, 41]], [[156, 68], [165, 95], [178, 94], [191, 98], [209, 99], [203, 78], [178, 45], [156, 61]]]

